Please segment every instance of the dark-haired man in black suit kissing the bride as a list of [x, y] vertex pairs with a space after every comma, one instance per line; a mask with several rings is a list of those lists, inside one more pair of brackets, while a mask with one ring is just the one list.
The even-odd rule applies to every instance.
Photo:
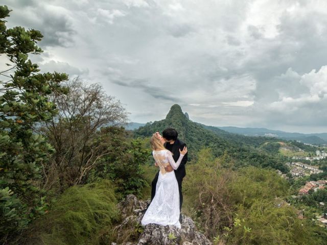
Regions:
[[[186, 144], [184, 142], [182, 142], [181, 140], [179, 140], [177, 138], [178, 133], [175, 129], [172, 128], [168, 128], [165, 129], [162, 132], [162, 137], [165, 139], [166, 143], [165, 148], [169, 151], [171, 151], [173, 153], [173, 158], [174, 161], [177, 162], [178, 158], [179, 158], [179, 149], [182, 151], [184, 146], [186, 146]], [[186, 171], [185, 171], [185, 164], [186, 161], [188, 161], [188, 154], [186, 153], [185, 156], [183, 157], [179, 167], [174, 170], [175, 171], [175, 176], [176, 176], [176, 180], [178, 183], [178, 190], [179, 190], [179, 210], [181, 211], [182, 208], [182, 203], [183, 203], [183, 195], [182, 195], [182, 181], [183, 178], [186, 175]], [[158, 173], [155, 175], [153, 181], [152, 181], [152, 189], [151, 189], [151, 201], [154, 198], [155, 195], [155, 189], [156, 189], [156, 185], [157, 185], [157, 181], [158, 181], [158, 176], [159, 176], [159, 171]], [[181, 215], [179, 216], [179, 221], [181, 222]]]

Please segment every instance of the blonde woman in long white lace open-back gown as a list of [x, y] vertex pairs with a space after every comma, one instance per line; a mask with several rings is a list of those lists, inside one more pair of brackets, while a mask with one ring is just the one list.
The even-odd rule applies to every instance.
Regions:
[[177, 169], [183, 156], [188, 152], [186, 146], [180, 151], [177, 162], [172, 153], [166, 150], [165, 140], [157, 132], [152, 135], [150, 144], [153, 149], [155, 165], [160, 172], [156, 185], [155, 196], [143, 216], [141, 224], [158, 224], [162, 226], [173, 225], [180, 228], [179, 222], [179, 191], [174, 169]]

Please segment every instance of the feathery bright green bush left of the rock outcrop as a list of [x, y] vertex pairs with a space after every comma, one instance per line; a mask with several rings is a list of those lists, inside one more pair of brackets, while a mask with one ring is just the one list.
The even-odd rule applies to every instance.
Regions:
[[70, 187], [52, 210], [33, 224], [27, 237], [46, 245], [99, 244], [119, 218], [116, 203], [108, 180]]

